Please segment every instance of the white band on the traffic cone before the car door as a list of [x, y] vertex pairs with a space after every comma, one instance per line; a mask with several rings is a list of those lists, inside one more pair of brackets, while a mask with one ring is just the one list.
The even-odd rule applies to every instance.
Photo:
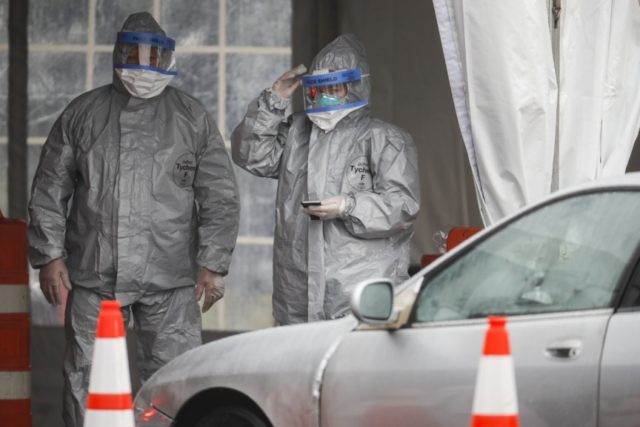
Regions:
[[511, 356], [483, 356], [473, 398], [474, 414], [516, 415], [518, 399]]

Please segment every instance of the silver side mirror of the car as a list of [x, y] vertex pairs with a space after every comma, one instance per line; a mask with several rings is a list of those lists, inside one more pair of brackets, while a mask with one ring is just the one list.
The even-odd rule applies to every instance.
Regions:
[[393, 311], [393, 282], [370, 279], [356, 285], [351, 294], [351, 311], [364, 323], [388, 323], [395, 317]]

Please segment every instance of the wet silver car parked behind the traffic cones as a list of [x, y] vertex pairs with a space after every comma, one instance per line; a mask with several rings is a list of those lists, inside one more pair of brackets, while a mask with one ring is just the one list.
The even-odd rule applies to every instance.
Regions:
[[138, 426], [468, 426], [507, 316], [523, 426], [640, 426], [640, 174], [557, 194], [353, 314], [214, 341], [135, 399]]

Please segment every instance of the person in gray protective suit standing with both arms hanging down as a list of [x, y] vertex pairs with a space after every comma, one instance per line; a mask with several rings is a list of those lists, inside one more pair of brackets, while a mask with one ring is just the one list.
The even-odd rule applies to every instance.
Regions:
[[142, 380], [201, 343], [198, 300], [224, 293], [238, 233], [232, 163], [215, 122], [168, 86], [175, 42], [148, 13], [118, 33], [110, 85], [80, 95], [42, 149], [29, 258], [46, 299], [66, 302], [64, 412], [82, 426], [100, 302], [138, 338]]

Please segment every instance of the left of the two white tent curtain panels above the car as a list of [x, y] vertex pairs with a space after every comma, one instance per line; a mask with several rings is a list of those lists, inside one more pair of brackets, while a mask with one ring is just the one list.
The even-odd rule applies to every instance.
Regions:
[[434, 0], [434, 7], [453, 96], [465, 98], [456, 108], [469, 120], [460, 125], [470, 128], [465, 144], [490, 224], [551, 188], [557, 86], [546, 2]]

